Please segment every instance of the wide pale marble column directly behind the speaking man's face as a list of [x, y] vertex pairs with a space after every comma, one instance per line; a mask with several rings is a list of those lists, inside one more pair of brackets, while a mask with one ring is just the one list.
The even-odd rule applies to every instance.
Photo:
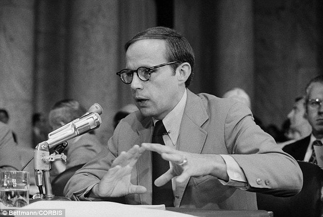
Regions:
[[[103, 107], [96, 130], [102, 143], [113, 134], [113, 116], [131, 103], [129, 85], [116, 72], [124, 68], [124, 43], [155, 24], [153, 1], [72, 1], [70, 8], [67, 97]], [[153, 23], [153, 24], [151, 24]]]

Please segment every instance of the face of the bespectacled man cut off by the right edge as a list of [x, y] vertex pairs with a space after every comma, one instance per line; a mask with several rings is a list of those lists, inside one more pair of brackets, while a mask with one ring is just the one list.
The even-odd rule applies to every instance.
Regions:
[[[323, 100], [323, 84], [313, 83], [309, 90], [309, 100]], [[312, 126], [312, 133], [316, 138], [323, 136], [323, 106], [312, 108], [308, 103], [306, 104], [307, 119]]]

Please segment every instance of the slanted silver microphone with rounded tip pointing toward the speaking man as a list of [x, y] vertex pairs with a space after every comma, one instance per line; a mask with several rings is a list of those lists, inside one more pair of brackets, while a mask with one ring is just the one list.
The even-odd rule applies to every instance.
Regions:
[[64, 141], [88, 133], [100, 126], [102, 123], [100, 114], [102, 114], [102, 107], [95, 103], [93, 104], [87, 113], [82, 117], [77, 118], [59, 129], [48, 134], [48, 140], [45, 141], [49, 148], [60, 144]]

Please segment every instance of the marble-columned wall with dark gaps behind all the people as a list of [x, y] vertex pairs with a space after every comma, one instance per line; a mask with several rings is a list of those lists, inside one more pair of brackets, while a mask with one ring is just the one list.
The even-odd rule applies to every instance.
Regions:
[[233, 87], [250, 95], [263, 125], [281, 127], [294, 98], [322, 73], [321, 0], [2, 0], [0, 108], [18, 143], [33, 146], [31, 118], [74, 98], [104, 110], [97, 135], [105, 144], [113, 116], [131, 103], [123, 45], [163, 25], [191, 43], [190, 89], [221, 97]]

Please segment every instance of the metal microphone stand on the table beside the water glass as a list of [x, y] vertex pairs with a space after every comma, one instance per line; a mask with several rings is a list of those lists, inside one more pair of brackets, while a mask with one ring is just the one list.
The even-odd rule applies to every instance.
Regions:
[[[30, 203], [39, 200], [63, 200], [70, 201], [69, 198], [55, 196], [52, 193], [49, 170], [50, 162], [56, 160], [66, 161], [66, 155], [60, 154], [67, 146], [67, 142], [57, 145], [55, 153], [49, 154], [49, 145], [46, 141], [39, 143], [34, 151], [34, 170], [36, 185], [39, 189], [39, 194], [30, 200]], [[45, 185], [45, 194], [43, 193], [43, 185]]]

